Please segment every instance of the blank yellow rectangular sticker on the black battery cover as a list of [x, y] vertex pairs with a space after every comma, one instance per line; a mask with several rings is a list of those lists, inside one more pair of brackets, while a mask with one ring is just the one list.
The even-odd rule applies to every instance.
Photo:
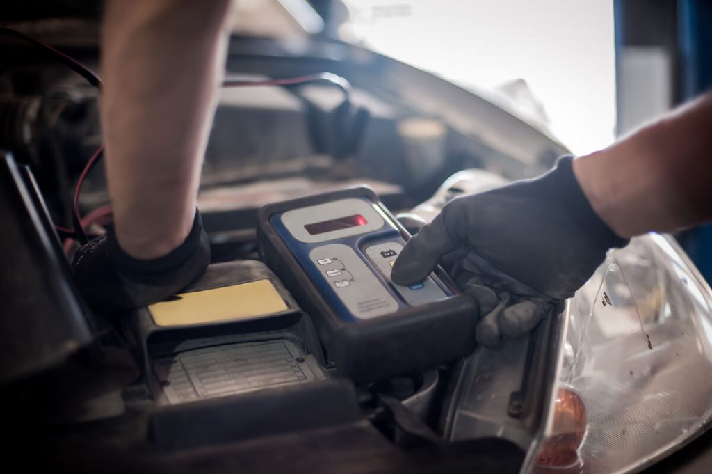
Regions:
[[177, 296], [180, 299], [148, 306], [157, 326], [253, 319], [289, 309], [268, 279]]

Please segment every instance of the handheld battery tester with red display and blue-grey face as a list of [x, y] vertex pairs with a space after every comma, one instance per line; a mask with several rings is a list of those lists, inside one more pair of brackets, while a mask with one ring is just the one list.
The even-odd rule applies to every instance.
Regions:
[[474, 349], [475, 305], [444, 271], [410, 287], [391, 281], [409, 235], [369, 188], [278, 202], [259, 221], [263, 259], [313, 317], [339, 373], [370, 381]]

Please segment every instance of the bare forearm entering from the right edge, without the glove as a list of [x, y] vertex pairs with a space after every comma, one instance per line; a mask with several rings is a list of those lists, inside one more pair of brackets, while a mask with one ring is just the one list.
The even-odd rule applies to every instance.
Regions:
[[597, 214], [621, 237], [712, 218], [712, 93], [573, 162]]

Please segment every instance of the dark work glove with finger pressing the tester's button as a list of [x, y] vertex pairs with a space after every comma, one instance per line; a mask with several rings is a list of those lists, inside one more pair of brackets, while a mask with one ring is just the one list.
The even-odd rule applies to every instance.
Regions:
[[393, 281], [420, 282], [442, 260], [479, 304], [480, 344], [496, 347], [527, 334], [553, 304], [582, 287], [608, 249], [629, 242], [596, 215], [571, 161], [564, 157], [533, 180], [448, 202], [404, 247]]

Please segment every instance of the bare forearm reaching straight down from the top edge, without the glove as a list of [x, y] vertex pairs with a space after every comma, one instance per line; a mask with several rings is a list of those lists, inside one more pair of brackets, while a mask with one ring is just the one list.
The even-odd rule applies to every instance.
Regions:
[[101, 118], [117, 239], [155, 258], [191, 229], [229, 0], [110, 0]]

